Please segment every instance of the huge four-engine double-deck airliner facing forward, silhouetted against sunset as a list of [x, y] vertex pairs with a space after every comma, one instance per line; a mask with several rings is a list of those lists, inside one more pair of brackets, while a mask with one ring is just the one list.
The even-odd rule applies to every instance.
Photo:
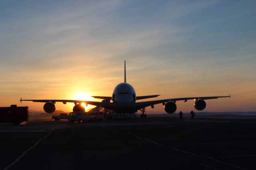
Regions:
[[[153, 97], [158, 97], [159, 95], [148, 95], [148, 96], [136, 96], [135, 90], [129, 83], [126, 83], [126, 62], [124, 61], [124, 83], [118, 84], [113, 91], [112, 97], [106, 96], [92, 96], [97, 99], [104, 99], [102, 102], [98, 101], [81, 101], [81, 100], [23, 100], [21, 101], [33, 101], [33, 102], [42, 102], [44, 104], [44, 111], [46, 113], [53, 113], [56, 109], [55, 103], [62, 102], [66, 104], [67, 102], [74, 103], [73, 111], [74, 112], [84, 112], [85, 108], [82, 106], [82, 103], [86, 105], [94, 105], [97, 108], [104, 108], [106, 110], [113, 111], [114, 113], [136, 113], [138, 110], [142, 111], [144, 115], [145, 108], [151, 106], [154, 108], [154, 105], [162, 103], [164, 105], [164, 110], [166, 113], [174, 113], [177, 109], [176, 101], [188, 101], [194, 100], [194, 107], [198, 111], [202, 111], [206, 108], [207, 99], [218, 99], [222, 97], [229, 96], [213, 96], [213, 97], [183, 97], [183, 98], [174, 98], [174, 99], [161, 99], [153, 101], [143, 101], [136, 102], [141, 99], [148, 99]], [[110, 102], [112, 101], [112, 102]]]

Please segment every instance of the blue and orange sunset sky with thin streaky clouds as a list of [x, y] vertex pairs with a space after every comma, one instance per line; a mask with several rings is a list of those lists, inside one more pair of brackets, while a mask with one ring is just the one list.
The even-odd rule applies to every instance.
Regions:
[[[254, 0], [1, 0], [0, 107], [22, 99], [222, 96], [204, 111], [256, 111]], [[177, 111], [194, 109], [178, 101]], [[56, 104], [72, 111], [74, 103]], [[164, 113], [156, 105], [148, 111]]]

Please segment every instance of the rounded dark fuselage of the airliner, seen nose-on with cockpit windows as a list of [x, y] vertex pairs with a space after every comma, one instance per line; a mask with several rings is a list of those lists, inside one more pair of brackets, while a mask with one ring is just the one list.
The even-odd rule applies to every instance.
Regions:
[[118, 84], [112, 94], [114, 111], [116, 113], [136, 113], [136, 93], [129, 83]]

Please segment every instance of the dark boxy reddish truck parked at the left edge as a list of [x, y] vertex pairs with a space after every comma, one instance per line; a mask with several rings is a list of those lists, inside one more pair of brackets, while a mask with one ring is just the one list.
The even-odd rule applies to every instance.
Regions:
[[11, 105], [10, 107], [0, 107], [0, 123], [20, 125], [20, 123], [28, 121], [28, 119], [28, 106], [17, 107], [17, 105]]

